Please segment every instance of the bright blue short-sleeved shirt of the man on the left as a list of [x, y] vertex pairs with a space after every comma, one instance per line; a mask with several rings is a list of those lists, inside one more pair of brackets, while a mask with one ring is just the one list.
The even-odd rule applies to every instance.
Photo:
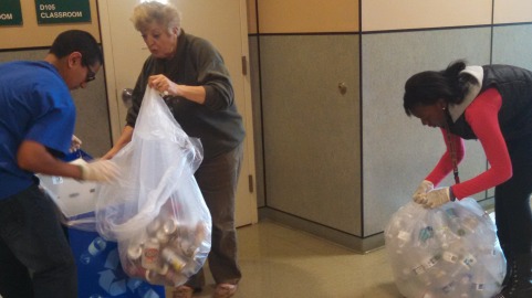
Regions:
[[35, 181], [17, 164], [21, 142], [42, 143], [56, 157], [67, 153], [75, 113], [69, 87], [50, 63], [0, 64], [0, 200]]

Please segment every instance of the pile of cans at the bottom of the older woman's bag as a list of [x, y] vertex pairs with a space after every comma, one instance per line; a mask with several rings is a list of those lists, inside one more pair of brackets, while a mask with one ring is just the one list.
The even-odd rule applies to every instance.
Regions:
[[[139, 240], [125, 244], [124, 270], [155, 285], [182, 285], [207, 258], [209, 230], [205, 222], [182, 224], [173, 214], [159, 214], [139, 233]], [[209, 247], [202, 247], [206, 244]]]

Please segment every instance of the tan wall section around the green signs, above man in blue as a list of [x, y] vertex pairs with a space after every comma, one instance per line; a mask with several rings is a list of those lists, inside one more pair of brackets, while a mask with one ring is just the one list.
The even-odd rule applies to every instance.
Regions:
[[96, 0], [90, 0], [90, 23], [45, 24], [36, 23], [35, 1], [21, 0], [22, 25], [0, 26], [0, 49], [24, 49], [52, 45], [55, 36], [70, 29], [80, 29], [91, 32], [100, 42], [100, 25]]

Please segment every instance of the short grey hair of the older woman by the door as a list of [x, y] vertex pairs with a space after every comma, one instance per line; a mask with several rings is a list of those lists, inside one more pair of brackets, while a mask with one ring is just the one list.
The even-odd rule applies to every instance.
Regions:
[[168, 31], [177, 28], [181, 31], [181, 14], [173, 4], [163, 4], [157, 1], [147, 1], [139, 3], [133, 10], [129, 19], [137, 31], [146, 30], [154, 22], [166, 25]]

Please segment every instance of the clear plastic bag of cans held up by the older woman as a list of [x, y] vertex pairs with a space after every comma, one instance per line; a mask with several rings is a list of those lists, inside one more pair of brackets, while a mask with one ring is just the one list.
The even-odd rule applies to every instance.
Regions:
[[147, 87], [132, 141], [113, 158], [119, 180], [102, 184], [96, 201], [97, 232], [118, 243], [131, 277], [179, 286], [202, 267], [211, 217], [194, 178], [201, 160], [199, 140]]

